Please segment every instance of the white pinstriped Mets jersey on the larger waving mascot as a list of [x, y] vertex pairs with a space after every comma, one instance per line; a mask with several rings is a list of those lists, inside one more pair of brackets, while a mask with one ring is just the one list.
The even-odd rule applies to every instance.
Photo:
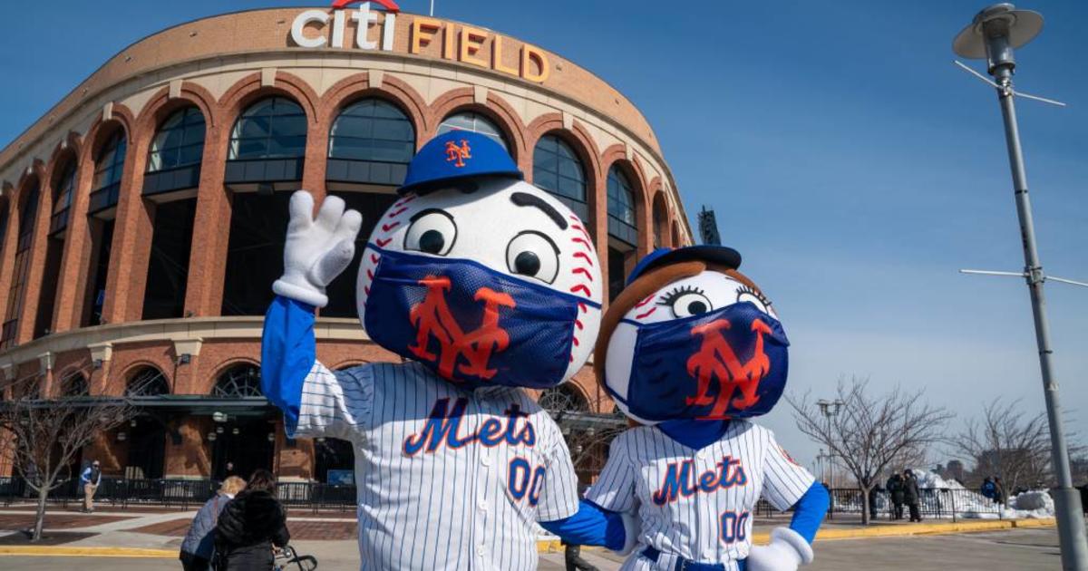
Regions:
[[578, 511], [567, 444], [518, 388], [314, 363], [296, 434], [355, 445], [361, 569], [535, 570], [535, 522]]

